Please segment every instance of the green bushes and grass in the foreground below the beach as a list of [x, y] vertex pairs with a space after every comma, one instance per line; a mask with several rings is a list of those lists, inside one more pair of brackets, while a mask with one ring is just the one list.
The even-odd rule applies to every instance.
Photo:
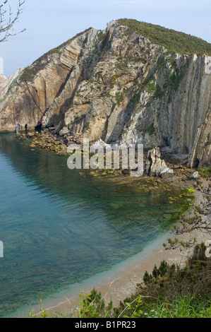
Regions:
[[[205, 244], [197, 245], [183, 268], [162, 261], [152, 273], [145, 272], [135, 294], [114, 308], [105, 304], [95, 288], [80, 295], [79, 308], [69, 318], [210, 318], [211, 259], [205, 256]], [[35, 317], [30, 314], [30, 317]], [[42, 318], [47, 314], [42, 309]], [[66, 318], [56, 313], [55, 318]]]

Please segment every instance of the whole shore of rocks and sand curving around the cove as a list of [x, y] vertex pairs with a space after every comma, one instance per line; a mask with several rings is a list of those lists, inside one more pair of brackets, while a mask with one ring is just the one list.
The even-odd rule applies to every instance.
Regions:
[[[44, 148], [46, 150], [52, 150], [58, 155], [67, 155], [67, 148], [71, 143], [81, 143], [79, 137], [71, 136], [56, 136], [52, 131], [46, 130], [39, 132], [29, 132], [27, 134], [19, 134], [20, 139], [30, 139], [30, 147]], [[157, 152], [157, 150], [155, 150]], [[152, 150], [148, 151], [148, 155], [152, 159]], [[159, 153], [158, 153], [159, 155]], [[160, 156], [160, 155], [159, 155]], [[159, 158], [158, 158], [159, 159]], [[160, 159], [161, 160], [161, 159]], [[162, 160], [159, 160], [162, 163]], [[195, 201], [191, 198], [186, 198], [190, 202], [190, 208], [183, 218], [175, 225], [174, 230], [172, 230], [171, 237], [166, 239], [164, 244], [160, 244], [156, 251], [152, 250], [152, 253], [143, 261], [138, 261], [133, 268], [126, 270], [125, 273], [118, 276], [111, 282], [97, 287], [97, 289], [102, 292], [104, 299], [109, 302], [110, 297], [115, 305], [119, 304], [119, 301], [123, 300], [131, 293], [135, 291], [136, 285], [141, 283], [143, 280], [143, 275], [145, 271], [152, 271], [155, 264], [159, 265], [162, 260], [166, 260], [168, 263], [177, 263], [183, 266], [186, 259], [193, 252], [195, 244], [205, 242], [211, 239], [210, 225], [211, 225], [211, 179], [204, 179], [200, 177], [198, 172], [191, 170], [183, 165], [174, 165], [166, 162], [167, 167], [172, 167], [174, 170], [174, 176], [161, 178], [159, 174], [155, 174], [156, 177], [144, 177], [143, 187], [147, 189], [148, 186], [162, 186], [164, 188], [169, 187], [172, 189], [181, 190], [193, 190]], [[90, 175], [96, 173], [104, 174], [104, 172], [90, 172]], [[137, 179], [125, 176], [128, 174], [123, 174], [123, 172], [106, 173], [106, 181], [119, 181], [119, 183], [126, 183], [137, 181]], [[113, 177], [112, 175], [116, 175]], [[144, 181], [145, 184], [144, 184]], [[172, 198], [173, 199], [173, 198]], [[181, 197], [183, 199], [183, 197]], [[171, 200], [169, 201], [171, 203]], [[81, 285], [83, 289], [83, 284]], [[88, 293], [90, 289], [86, 289]], [[79, 295], [79, 294], [78, 294]], [[79, 296], [73, 298], [66, 298], [63, 303], [60, 303], [52, 308], [47, 309], [49, 314], [54, 314], [54, 312], [70, 313], [76, 309], [78, 305]]]

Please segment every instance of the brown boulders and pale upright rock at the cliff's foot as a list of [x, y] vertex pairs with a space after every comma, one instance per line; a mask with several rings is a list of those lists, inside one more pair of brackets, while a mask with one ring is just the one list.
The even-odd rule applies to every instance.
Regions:
[[[40, 132], [20, 132], [19, 134], [16, 134], [16, 138], [20, 140], [29, 140], [30, 148], [32, 149], [36, 147], [42, 148], [44, 150], [52, 151], [60, 156], [68, 157], [68, 155], [71, 155], [71, 153], [68, 153], [68, 147], [72, 144], [74, 146], [78, 145], [83, 153], [83, 138], [81, 136], [71, 136], [70, 134], [60, 136], [54, 133], [54, 128], [44, 129]], [[162, 149], [153, 148], [152, 150], [146, 150], [143, 157], [144, 173], [143, 177], [140, 177], [140, 179], [154, 178], [157, 183], [161, 181], [163, 184], [166, 183], [178, 189], [186, 189], [190, 187], [196, 188], [200, 185], [202, 180], [204, 182], [209, 180], [200, 177], [197, 169], [187, 167], [187, 165], [183, 163], [183, 160], [179, 163], [179, 160], [176, 160], [172, 156], [172, 158], [169, 158], [169, 155], [165, 155]], [[119, 170], [115, 170], [114, 168], [107, 170], [106, 167], [104, 167], [104, 170], [97, 169], [94, 171], [91, 170], [90, 172], [90, 175], [97, 176], [98, 174], [107, 177], [110, 180], [115, 176], [114, 181], [116, 181], [116, 177], [119, 177], [119, 179], [126, 177], [126, 181], [135, 180], [135, 178], [129, 176], [131, 174], [130, 167], [128, 167], [128, 169], [121, 168], [121, 159]]]

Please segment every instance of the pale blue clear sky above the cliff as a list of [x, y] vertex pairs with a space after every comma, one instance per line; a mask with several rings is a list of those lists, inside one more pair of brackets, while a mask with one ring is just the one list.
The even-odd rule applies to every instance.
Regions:
[[[15, 13], [18, 0], [8, 2]], [[210, 0], [25, 0], [15, 26], [15, 32], [25, 32], [0, 43], [4, 74], [29, 66], [78, 32], [90, 27], [104, 30], [118, 18], [162, 25], [211, 42]]]

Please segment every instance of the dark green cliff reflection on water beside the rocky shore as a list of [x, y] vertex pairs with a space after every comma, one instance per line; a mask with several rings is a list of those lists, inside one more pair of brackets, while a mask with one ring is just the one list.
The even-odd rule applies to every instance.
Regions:
[[168, 204], [169, 192], [162, 189], [143, 191], [138, 181], [132, 185], [106, 182], [90, 177], [86, 170], [81, 170], [85, 175], [81, 177], [78, 170], [68, 169], [66, 157], [32, 149], [29, 145], [29, 141], [19, 141], [13, 134], [0, 135], [0, 151], [6, 154], [13, 167], [27, 178], [29, 184], [38, 186], [51, 196], [58, 195], [72, 203], [92, 204], [93, 208], [97, 204], [117, 219], [128, 215], [131, 220], [140, 211], [163, 223], [162, 214], [174, 210], [174, 206]]

